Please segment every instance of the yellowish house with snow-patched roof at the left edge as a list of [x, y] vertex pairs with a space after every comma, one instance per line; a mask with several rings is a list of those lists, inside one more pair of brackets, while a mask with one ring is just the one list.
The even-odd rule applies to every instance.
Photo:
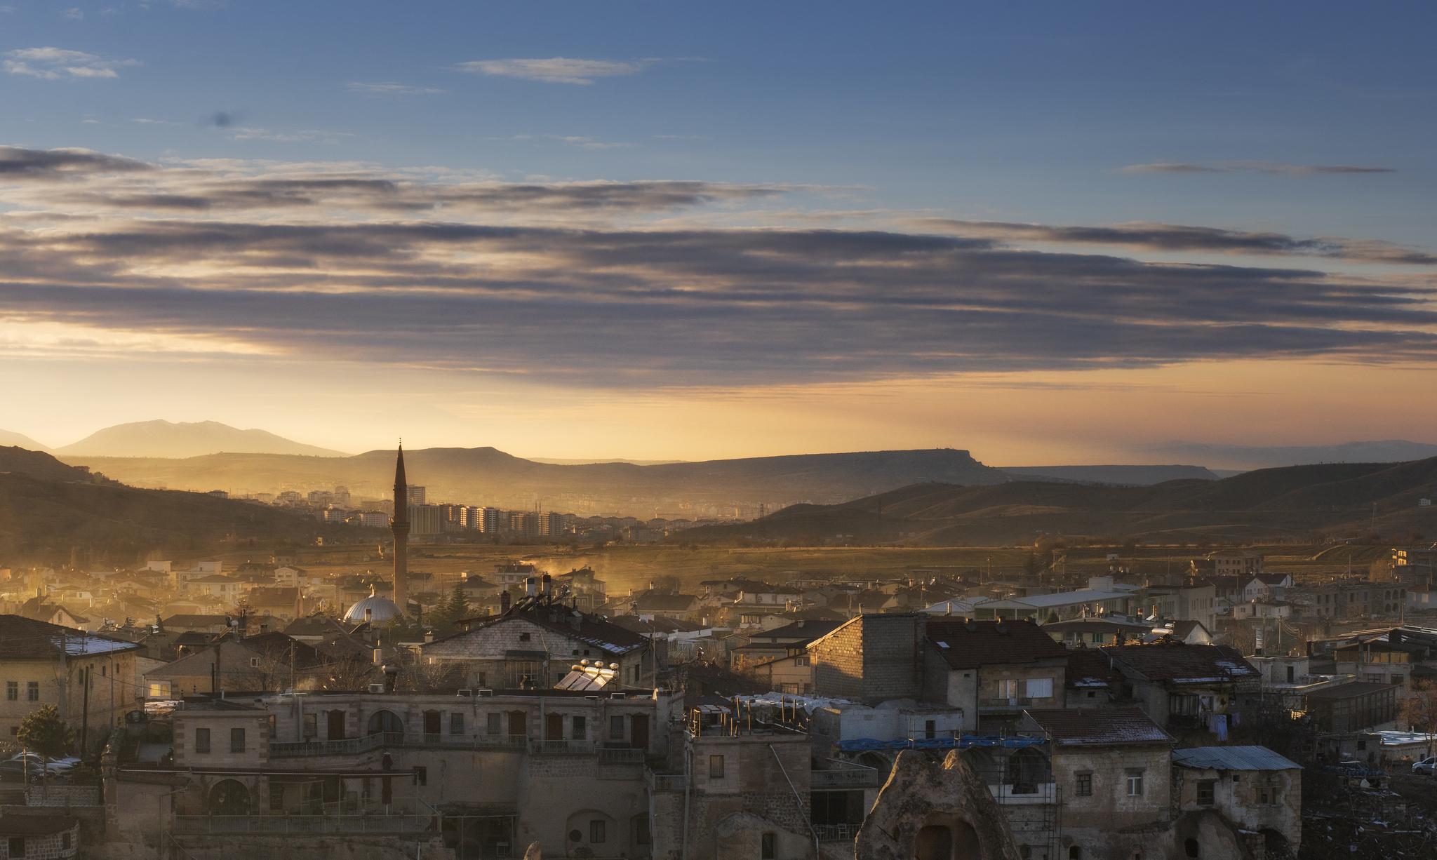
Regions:
[[55, 705], [75, 729], [82, 752], [103, 742], [134, 711], [135, 655], [142, 646], [17, 614], [0, 614], [0, 734]]

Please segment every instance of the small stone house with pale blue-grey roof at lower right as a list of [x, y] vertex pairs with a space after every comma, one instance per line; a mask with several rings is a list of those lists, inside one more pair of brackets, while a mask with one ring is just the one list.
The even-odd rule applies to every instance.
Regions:
[[[1173, 780], [1183, 813], [1214, 810], [1240, 830], [1263, 834], [1269, 850], [1302, 843], [1302, 765], [1266, 747], [1174, 749]], [[1200, 836], [1188, 838], [1198, 841], [1198, 857], [1224, 856]]]

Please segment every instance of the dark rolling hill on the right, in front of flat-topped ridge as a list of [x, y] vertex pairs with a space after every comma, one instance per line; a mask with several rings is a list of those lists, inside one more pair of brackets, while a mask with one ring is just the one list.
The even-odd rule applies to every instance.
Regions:
[[1158, 543], [1346, 534], [1392, 540], [1431, 531], [1437, 457], [1400, 464], [1321, 464], [1257, 469], [1220, 481], [1151, 487], [1010, 481], [989, 487], [915, 484], [839, 505], [793, 505], [754, 523], [691, 528], [687, 538], [904, 540], [984, 546], [1035, 536], [1117, 536]]

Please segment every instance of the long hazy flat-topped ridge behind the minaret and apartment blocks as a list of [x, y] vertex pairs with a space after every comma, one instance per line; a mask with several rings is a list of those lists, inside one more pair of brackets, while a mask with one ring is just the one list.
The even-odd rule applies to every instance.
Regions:
[[[394, 451], [368, 451], [346, 458], [274, 454], [211, 454], [188, 459], [60, 457], [129, 484], [164, 482], [170, 487], [236, 490], [342, 484], [354, 492], [361, 492], [362, 487], [369, 487], [372, 492], [388, 492], [394, 482]], [[494, 448], [421, 448], [405, 451], [404, 461], [410, 481], [428, 487], [430, 500], [466, 504], [517, 494], [606, 497], [624, 508], [634, 507], [624, 504], [634, 497], [707, 498], [716, 504], [831, 504], [921, 481], [1000, 484], [1009, 480], [999, 469], [973, 459], [967, 451], [951, 448], [799, 454], [662, 465], [558, 465], [522, 459]]]

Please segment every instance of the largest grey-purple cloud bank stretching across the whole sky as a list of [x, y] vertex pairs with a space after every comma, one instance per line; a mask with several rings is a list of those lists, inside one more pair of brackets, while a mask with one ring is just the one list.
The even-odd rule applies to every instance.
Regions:
[[[1336, 240], [1154, 224], [953, 221], [947, 235], [931, 223], [927, 233], [665, 230], [642, 220], [553, 227], [540, 221], [786, 190], [434, 182], [354, 164], [101, 172], [105, 158], [137, 162], [86, 151], [6, 154], [34, 165], [11, 171], [34, 181], [0, 181], [0, 197], [43, 208], [34, 223], [23, 212], [0, 221], [0, 319], [168, 343], [213, 339], [216, 355], [299, 363], [362, 355], [456, 378], [596, 386], [1273, 357], [1437, 365], [1430, 276], [1145, 263], [1006, 244], [1256, 247], [1322, 258], [1323, 243]], [[1342, 241], [1331, 247], [1361, 247]]]

